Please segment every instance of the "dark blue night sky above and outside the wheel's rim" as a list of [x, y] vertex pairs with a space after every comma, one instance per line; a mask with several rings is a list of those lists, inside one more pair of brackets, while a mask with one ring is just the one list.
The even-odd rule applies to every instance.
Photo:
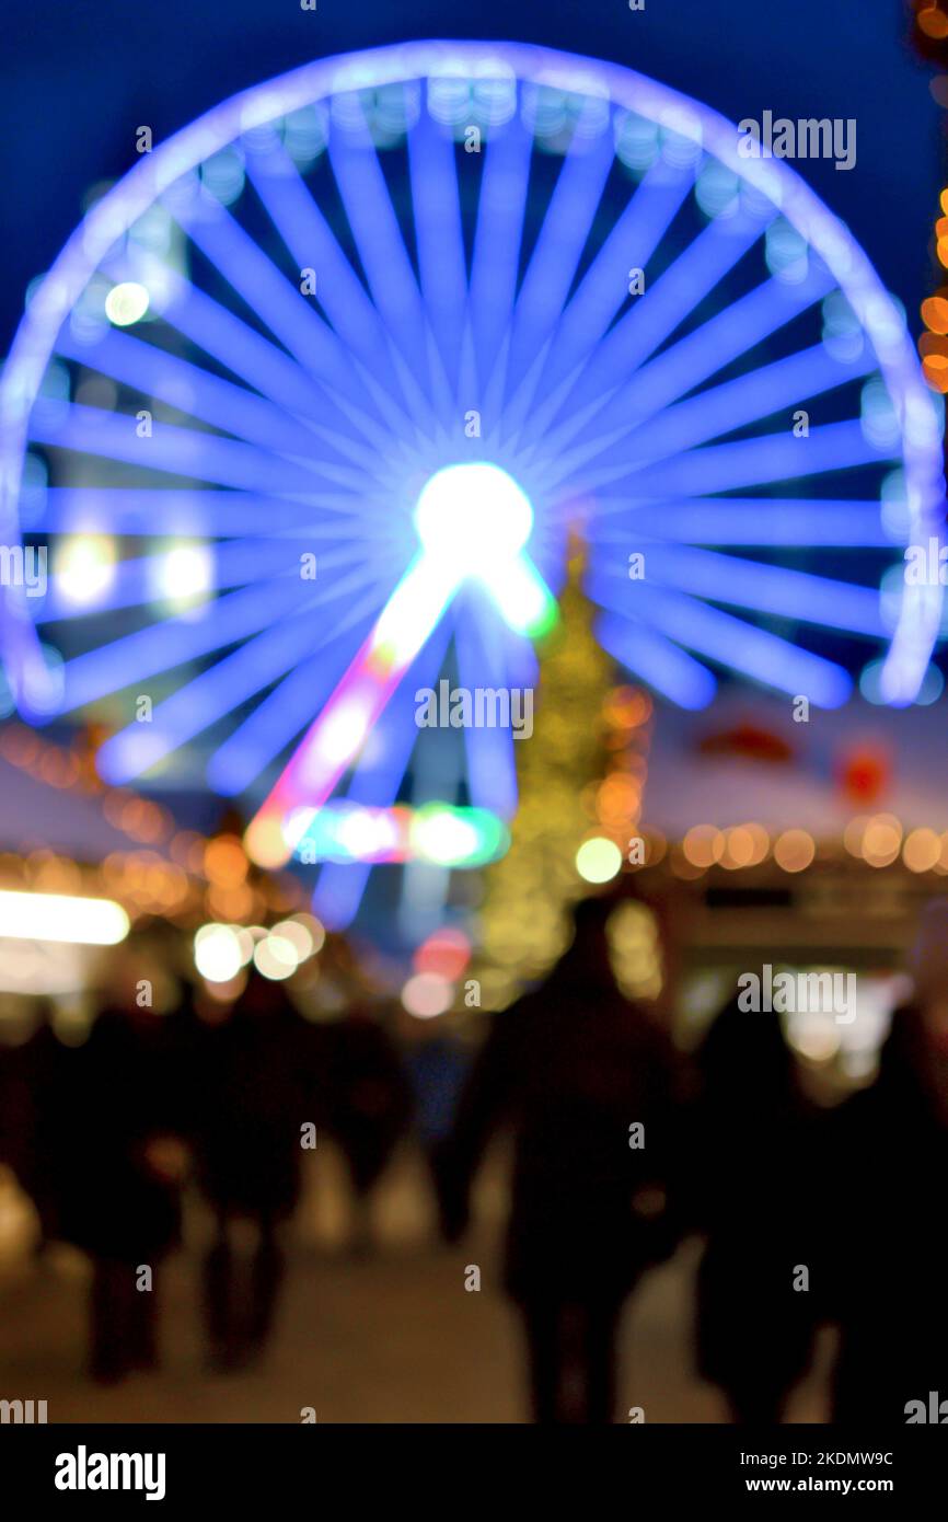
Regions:
[[908, 43], [907, 0], [3, 0], [0, 353], [27, 280], [46, 269], [90, 184], [216, 100], [307, 58], [405, 37], [513, 37], [613, 58], [732, 119], [841, 116], [858, 161], [803, 164], [910, 307], [933, 279], [940, 187], [931, 68]]

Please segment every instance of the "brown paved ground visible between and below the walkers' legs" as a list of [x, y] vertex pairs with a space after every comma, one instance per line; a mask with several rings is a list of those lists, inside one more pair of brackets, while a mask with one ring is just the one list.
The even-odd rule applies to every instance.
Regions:
[[[339, 1164], [321, 1148], [265, 1365], [227, 1377], [202, 1368], [195, 1269], [204, 1222], [192, 1212], [164, 1277], [163, 1371], [99, 1390], [81, 1374], [85, 1262], [56, 1247], [33, 1266], [17, 1251], [17, 1205], [0, 1190], [0, 1397], [46, 1399], [50, 1422], [298, 1422], [303, 1406], [320, 1422], [522, 1422], [519, 1327], [491, 1288], [501, 1201], [488, 1170], [472, 1237], [457, 1251], [432, 1247], [420, 1164], [408, 1155], [374, 1201], [377, 1253], [353, 1259]], [[648, 1275], [625, 1318], [619, 1420], [633, 1405], [647, 1422], [723, 1420], [717, 1393], [689, 1371], [694, 1247]], [[464, 1289], [469, 1263], [481, 1266], [479, 1294]], [[791, 1420], [825, 1420], [825, 1355]]]

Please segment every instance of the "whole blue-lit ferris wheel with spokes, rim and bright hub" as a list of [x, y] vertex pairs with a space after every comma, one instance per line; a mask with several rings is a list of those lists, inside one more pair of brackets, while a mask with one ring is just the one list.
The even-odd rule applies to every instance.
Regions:
[[[262, 863], [341, 793], [383, 828], [415, 691], [449, 651], [466, 689], [531, 685], [575, 534], [603, 645], [674, 703], [733, 671], [838, 706], [860, 658], [826, 630], [915, 700], [940, 419], [787, 161], [510, 43], [321, 59], [138, 146], [0, 379], [5, 543], [50, 552], [44, 591], [5, 578], [8, 682], [32, 721], [105, 705], [108, 781], [204, 737], [210, 785], [263, 798]], [[464, 746], [508, 817], [510, 732]]]

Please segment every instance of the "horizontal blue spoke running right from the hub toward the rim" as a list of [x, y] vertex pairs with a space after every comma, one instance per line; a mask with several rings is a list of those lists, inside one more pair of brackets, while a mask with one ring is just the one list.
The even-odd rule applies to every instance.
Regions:
[[665, 537], [692, 545], [746, 548], [892, 549], [878, 499], [723, 496], [654, 502], [598, 501], [598, 522], [589, 525], [596, 545], [627, 546], [630, 534]]

